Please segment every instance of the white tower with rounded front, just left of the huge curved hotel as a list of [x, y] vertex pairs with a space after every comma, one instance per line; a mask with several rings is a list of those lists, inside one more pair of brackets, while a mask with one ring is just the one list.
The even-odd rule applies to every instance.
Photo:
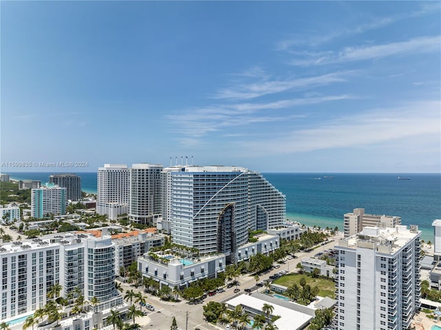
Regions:
[[162, 214], [163, 165], [133, 164], [130, 168], [129, 219], [156, 225]]

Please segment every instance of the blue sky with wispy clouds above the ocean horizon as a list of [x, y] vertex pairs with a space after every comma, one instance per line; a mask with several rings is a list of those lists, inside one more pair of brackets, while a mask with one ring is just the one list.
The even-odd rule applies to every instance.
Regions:
[[438, 2], [0, 6], [2, 172], [441, 172]]

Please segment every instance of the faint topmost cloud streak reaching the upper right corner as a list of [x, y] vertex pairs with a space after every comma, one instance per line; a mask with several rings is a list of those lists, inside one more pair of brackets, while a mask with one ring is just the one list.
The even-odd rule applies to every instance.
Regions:
[[317, 33], [315, 36], [305, 37], [305, 34], [292, 35], [287, 39], [278, 41], [276, 44], [276, 50], [288, 50], [291, 52], [291, 48], [300, 45], [318, 46], [334, 39], [341, 37], [349, 37], [351, 35], [362, 34], [370, 30], [376, 30], [384, 28], [387, 25], [402, 21], [403, 19], [410, 19], [413, 17], [422, 17], [427, 14], [433, 14], [435, 12], [440, 12], [439, 3], [422, 3], [421, 8], [413, 12], [404, 12], [402, 14], [395, 14], [389, 17], [376, 17], [371, 19], [371, 21], [366, 23], [360, 23], [351, 28], [330, 28], [331, 32], [328, 33]]

